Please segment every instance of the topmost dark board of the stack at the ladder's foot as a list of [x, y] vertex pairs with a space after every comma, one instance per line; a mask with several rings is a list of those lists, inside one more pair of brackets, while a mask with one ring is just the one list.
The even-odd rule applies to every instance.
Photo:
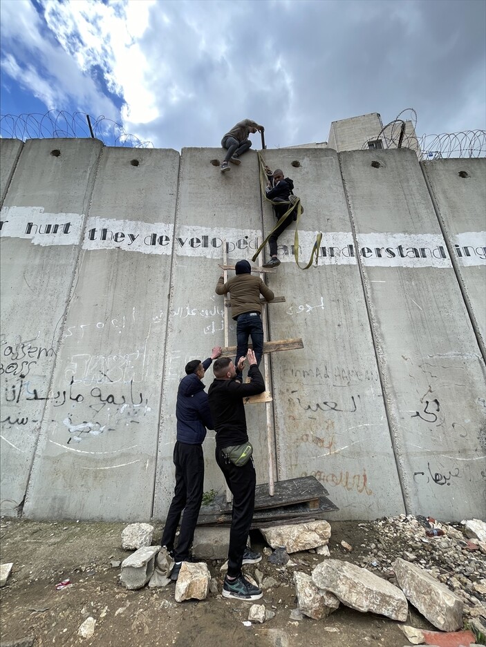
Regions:
[[[315, 476], [300, 476], [298, 479], [288, 479], [275, 483], [274, 495], [268, 494], [268, 484], [256, 485], [255, 489], [255, 510], [262, 508], [280, 508], [281, 506], [294, 505], [295, 503], [306, 503], [315, 501], [322, 496], [328, 496], [329, 492]], [[334, 504], [333, 504], [334, 505]], [[223, 512], [231, 510], [230, 503], [223, 503]]]

